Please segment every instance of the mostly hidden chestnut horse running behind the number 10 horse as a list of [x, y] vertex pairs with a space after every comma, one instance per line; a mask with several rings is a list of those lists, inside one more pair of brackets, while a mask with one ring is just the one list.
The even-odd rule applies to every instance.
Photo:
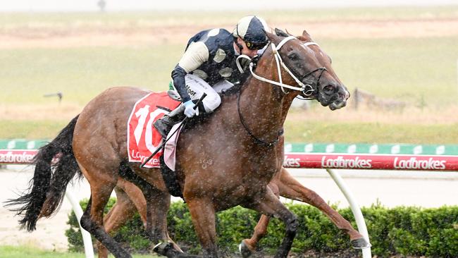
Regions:
[[[282, 32], [278, 31], [278, 34]], [[287, 36], [287, 35], [283, 35]], [[305, 34], [297, 37], [303, 42], [313, 42], [309, 35]], [[321, 59], [321, 63], [325, 64], [325, 67], [331, 69], [330, 60], [326, 55], [321, 55], [319, 51], [321, 49], [314, 48], [316, 56]], [[280, 144], [278, 145], [278, 157], [283, 158], [283, 136], [280, 137]], [[273, 180], [268, 185], [276, 195], [286, 197], [288, 199], [295, 199], [297, 201], [306, 202], [314, 207], [317, 207], [323, 211], [326, 216], [337, 226], [341, 231], [347, 233], [352, 243], [352, 247], [361, 249], [369, 247], [369, 243], [363, 238], [363, 236], [354, 228], [352, 225], [344, 219], [337, 211], [330, 207], [316, 192], [304, 187], [285, 168], [280, 168], [280, 171], [276, 173]], [[116, 231], [120, 226], [123, 225], [128, 219], [130, 219], [135, 211], [138, 211], [140, 217], [144, 223], [146, 223], [146, 201], [142, 195], [142, 192], [134, 184], [129, 183], [125, 180], [118, 182], [116, 190], [116, 204], [113, 209], [109, 212], [108, 216], [104, 219], [104, 226], [107, 232]], [[259, 219], [258, 224], [254, 228], [254, 234], [252, 238], [245, 239], [240, 244], [240, 251], [243, 257], [248, 257], [256, 249], [256, 245], [261, 238], [266, 234], [269, 217], [262, 215]], [[175, 245], [172, 240], [170, 242]], [[175, 247], [178, 248], [178, 247]], [[106, 248], [99, 243], [98, 245], [99, 257], [108, 257]]]

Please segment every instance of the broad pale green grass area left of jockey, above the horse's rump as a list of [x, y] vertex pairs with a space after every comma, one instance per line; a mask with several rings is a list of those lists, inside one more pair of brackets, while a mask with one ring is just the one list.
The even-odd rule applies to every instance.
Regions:
[[113, 86], [166, 90], [179, 49], [182, 46], [0, 49], [0, 85], [5, 85], [0, 102], [45, 104], [50, 99], [43, 94], [63, 92], [65, 102], [84, 105]]

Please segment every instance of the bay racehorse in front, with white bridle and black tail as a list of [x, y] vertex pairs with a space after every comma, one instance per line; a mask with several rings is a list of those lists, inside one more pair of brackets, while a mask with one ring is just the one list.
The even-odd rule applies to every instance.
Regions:
[[[204, 257], [218, 256], [215, 212], [237, 205], [284, 221], [285, 237], [276, 257], [287, 256], [297, 231], [297, 219], [267, 187], [282, 165], [279, 160], [283, 157], [278, 156], [276, 143], [287, 111], [300, 91], [309, 90], [318, 102], [330, 109], [345, 106], [349, 97], [333, 70], [326, 69], [311, 50], [318, 46], [305, 46], [295, 37], [268, 33], [268, 38], [271, 45], [259, 59], [256, 75], [250, 76], [236, 94], [224, 96], [219, 109], [201, 118], [204, 123], [195, 123], [184, 130], [178, 140], [178, 179]], [[277, 73], [280, 69], [281, 76]], [[118, 182], [120, 167], [125, 164], [152, 186], [142, 188], [147, 200], [147, 218], [156, 218], [156, 221], [147, 220], [151, 241], [167, 240], [164, 224], [157, 221], [165, 220], [170, 195], [159, 169], [127, 163], [128, 117], [135, 102], [145, 94], [144, 90], [131, 87], [111, 88], [101, 93], [63, 130], [65, 135], [51, 142], [47, 156], [39, 160], [49, 166], [51, 153], [64, 149], [63, 156], [69, 161], [73, 156], [78, 162], [77, 168], [91, 188], [81, 225], [116, 257], [130, 257], [130, 254], [104, 231], [103, 209]], [[71, 131], [73, 135], [68, 135]], [[73, 137], [70, 150], [69, 137], [70, 140]], [[211, 160], [211, 165], [202, 167], [199, 162], [202, 159]], [[63, 166], [64, 161], [59, 162]], [[21, 221], [24, 226], [32, 230], [39, 217], [49, 216], [58, 207], [66, 184], [78, 173], [73, 169], [74, 163], [71, 168], [53, 172], [46, 167], [40, 178], [35, 171], [32, 191], [11, 202], [25, 204], [18, 209], [19, 214], [25, 211]], [[175, 255], [187, 256], [178, 251], [167, 254]]]

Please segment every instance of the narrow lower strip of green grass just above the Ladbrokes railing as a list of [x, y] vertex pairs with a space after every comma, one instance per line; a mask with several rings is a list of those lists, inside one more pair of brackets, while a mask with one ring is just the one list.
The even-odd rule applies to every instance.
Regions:
[[[69, 121], [1, 121], [0, 139], [52, 139]], [[458, 124], [409, 125], [287, 120], [287, 142], [458, 144]]]

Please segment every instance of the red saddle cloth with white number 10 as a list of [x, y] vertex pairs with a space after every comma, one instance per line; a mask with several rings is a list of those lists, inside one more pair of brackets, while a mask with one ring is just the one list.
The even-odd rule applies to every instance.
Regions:
[[[162, 143], [162, 136], [153, 124], [180, 102], [168, 97], [167, 92], [151, 92], [137, 101], [128, 120], [128, 154], [130, 162], [145, 161]], [[168, 109], [168, 110], [167, 110]], [[144, 166], [159, 168], [159, 151]]]

